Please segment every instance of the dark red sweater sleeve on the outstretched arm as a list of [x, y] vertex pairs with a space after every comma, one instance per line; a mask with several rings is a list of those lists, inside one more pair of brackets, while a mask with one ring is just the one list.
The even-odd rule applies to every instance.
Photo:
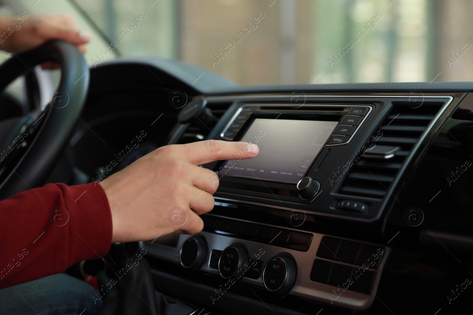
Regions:
[[102, 186], [48, 184], [0, 201], [0, 289], [104, 256], [112, 215]]

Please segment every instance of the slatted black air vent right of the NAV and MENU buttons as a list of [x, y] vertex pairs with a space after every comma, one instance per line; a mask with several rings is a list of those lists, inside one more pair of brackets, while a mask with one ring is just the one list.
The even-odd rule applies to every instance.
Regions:
[[395, 102], [389, 115], [363, 151], [353, 154], [353, 165], [342, 182], [340, 194], [383, 198], [406, 157], [442, 107], [442, 102], [423, 103], [419, 108]]

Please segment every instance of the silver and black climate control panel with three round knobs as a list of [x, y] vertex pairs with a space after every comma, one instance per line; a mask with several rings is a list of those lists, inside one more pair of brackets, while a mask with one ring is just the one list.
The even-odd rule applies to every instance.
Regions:
[[[207, 217], [216, 220], [212, 228]], [[149, 255], [180, 264], [187, 273], [220, 278], [225, 288], [239, 282], [275, 298], [292, 295], [358, 310], [374, 300], [390, 251], [321, 233], [209, 214], [202, 218], [207, 228], [194, 236], [176, 234], [175, 245], [141, 245]]]

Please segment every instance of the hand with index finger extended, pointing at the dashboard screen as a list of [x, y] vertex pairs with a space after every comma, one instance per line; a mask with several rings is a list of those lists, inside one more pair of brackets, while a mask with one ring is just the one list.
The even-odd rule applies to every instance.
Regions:
[[219, 178], [197, 165], [258, 153], [256, 145], [245, 142], [166, 145], [104, 179], [100, 185], [112, 212], [112, 242], [154, 239], [174, 231], [199, 233], [199, 215], [213, 209]]

